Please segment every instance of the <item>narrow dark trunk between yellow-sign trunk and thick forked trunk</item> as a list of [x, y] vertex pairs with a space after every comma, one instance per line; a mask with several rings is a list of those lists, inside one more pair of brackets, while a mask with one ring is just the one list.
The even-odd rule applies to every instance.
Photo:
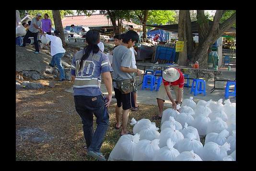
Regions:
[[189, 10], [186, 10], [186, 39], [187, 39], [187, 56], [189, 57], [189, 60], [192, 60], [192, 51], [194, 47], [193, 43], [193, 34], [191, 30], [191, 19], [190, 19], [190, 12]]

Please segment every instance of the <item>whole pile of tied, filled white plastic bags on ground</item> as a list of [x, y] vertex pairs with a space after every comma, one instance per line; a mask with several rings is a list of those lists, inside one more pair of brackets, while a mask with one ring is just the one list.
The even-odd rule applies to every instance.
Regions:
[[[163, 111], [161, 131], [149, 119], [131, 119], [132, 135], [117, 141], [108, 160], [235, 161], [235, 103], [184, 99], [180, 112]], [[204, 137], [202, 143], [200, 137]]]

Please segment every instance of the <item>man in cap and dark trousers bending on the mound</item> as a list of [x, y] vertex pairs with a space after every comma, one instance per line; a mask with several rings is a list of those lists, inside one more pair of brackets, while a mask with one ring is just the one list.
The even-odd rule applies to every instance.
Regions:
[[42, 15], [40, 13], [37, 13], [36, 17], [31, 20], [30, 27], [28, 28], [28, 31], [25, 37], [23, 38], [23, 45], [21, 45], [21, 46], [26, 46], [28, 38], [34, 37], [35, 54], [39, 53], [39, 44], [37, 40], [38, 31], [43, 32], [41, 17]]

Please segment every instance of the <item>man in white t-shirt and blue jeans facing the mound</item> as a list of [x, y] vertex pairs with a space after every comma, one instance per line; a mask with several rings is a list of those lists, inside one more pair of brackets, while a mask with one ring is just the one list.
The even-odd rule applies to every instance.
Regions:
[[61, 58], [64, 56], [64, 53], [66, 52], [66, 50], [63, 48], [62, 41], [59, 38], [59, 31], [58, 30], [54, 31], [54, 35], [49, 35], [43, 32], [41, 32], [41, 34], [46, 36], [48, 41], [51, 41], [52, 60], [49, 65], [51, 67], [54, 67], [56, 64], [59, 71], [59, 81], [65, 81], [66, 76], [65, 76], [64, 68], [61, 64]]

